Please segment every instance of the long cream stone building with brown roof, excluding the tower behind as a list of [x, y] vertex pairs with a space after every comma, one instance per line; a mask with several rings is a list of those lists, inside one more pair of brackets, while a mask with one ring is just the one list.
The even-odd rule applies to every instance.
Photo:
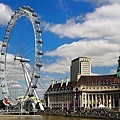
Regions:
[[78, 81], [51, 84], [45, 94], [45, 105], [51, 109], [94, 108], [100, 105], [117, 108], [120, 78], [116, 76], [81, 76]]

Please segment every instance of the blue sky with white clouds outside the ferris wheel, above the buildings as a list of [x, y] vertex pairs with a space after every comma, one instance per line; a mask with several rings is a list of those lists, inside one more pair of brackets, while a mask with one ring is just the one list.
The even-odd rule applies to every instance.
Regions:
[[0, 0], [0, 39], [19, 7], [30, 6], [39, 15], [43, 39], [41, 78], [70, 76], [71, 60], [89, 57], [92, 74], [114, 74], [120, 51], [119, 0]]

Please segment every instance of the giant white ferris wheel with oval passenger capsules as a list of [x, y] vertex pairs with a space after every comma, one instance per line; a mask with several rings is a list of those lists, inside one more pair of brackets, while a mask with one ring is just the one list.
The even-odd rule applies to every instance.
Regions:
[[[38, 15], [29, 6], [20, 7], [8, 22], [1, 48], [0, 82], [9, 104], [35, 97], [42, 67], [42, 31]], [[41, 106], [41, 109], [43, 107]]]

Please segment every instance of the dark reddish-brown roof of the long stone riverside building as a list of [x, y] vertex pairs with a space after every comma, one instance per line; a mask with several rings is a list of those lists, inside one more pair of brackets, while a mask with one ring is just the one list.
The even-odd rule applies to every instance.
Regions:
[[78, 81], [71, 81], [68, 82], [68, 85], [66, 86], [66, 82], [64, 82], [61, 86], [61, 83], [56, 83], [53, 85], [50, 85], [48, 90], [57, 90], [58, 88], [62, 88], [62, 89], [69, 89], [69, 88], [73, 88], [75, 86], [80, 86], [80, 85], [95, 85], [95, 86], [99, 86], [99, 85], [115, 85], [120, 83], [120, 78], [117, 78], [116, 74], [113, 75], [96, 75], [96, 76], [81, 76], [79, 78]]

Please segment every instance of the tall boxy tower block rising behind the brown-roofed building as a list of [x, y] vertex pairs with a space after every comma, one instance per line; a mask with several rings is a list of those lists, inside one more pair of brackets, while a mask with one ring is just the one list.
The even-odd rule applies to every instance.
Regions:
[[91, 59], [87, 57], [78, 57], [71, 61], [70, 78], [71, 81], [78, 80], [78, 76], [91, 74]]

